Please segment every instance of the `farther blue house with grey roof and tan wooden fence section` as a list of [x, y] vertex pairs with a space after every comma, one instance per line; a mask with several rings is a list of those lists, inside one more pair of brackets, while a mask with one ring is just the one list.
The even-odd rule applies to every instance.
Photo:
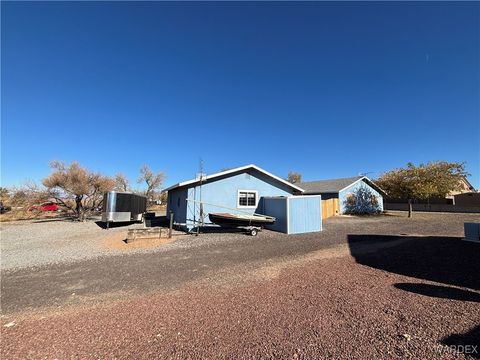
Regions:
[[322, 214], [324, 219], [336, 214], [344, 214], [345, 203], [348, 197], [354, 194], [360, 187], [370, 190], [380, 210], [383, 211], [383, 196], [385, 192], [366, 176], [303, 182], [299, 186], [305, 190], [304, 195], [322, 196]]

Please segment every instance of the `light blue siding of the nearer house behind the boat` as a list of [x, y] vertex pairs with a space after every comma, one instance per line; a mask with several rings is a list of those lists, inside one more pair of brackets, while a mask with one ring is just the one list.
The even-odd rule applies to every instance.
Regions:
[[[243, 208], [237, 206], [238, 190], [257, 191], [257, 206], [252, 208]], [[183, 192], [183, 193], [182, 193]], [[201, 197], [200, 197], [201, 192]], [[200, 221], [200, 205], [190, 200], [202, 200], [204, 224], [210, 224], [208, 213], [218, 212], [237, 212], [243, 214], [263, 213], [262, 197], [269, 196], [290, 196], [294, 190], [275, 181], [269, 176], [256, 170], [248, 170], [236, 175], [226, 176], [211, 182], [206, 182], [200, 186], [191, 186], [189, 188], [172, 190], [169, 192], [169, 198], [172, 196], [172, 209], [175, 214], [175, 222], [184, 225], [187, 229], [194, 228]], [[171, 193], [171, 194], [170, 194]], [[182, 206], [176, 207], [176, 201], [180, 198]], [[169, 199], [170, 205], [170, 199]], [[170, 211], [170, 208], [168, 209]], [[177, 221], [178, 219], [178, 221]]]

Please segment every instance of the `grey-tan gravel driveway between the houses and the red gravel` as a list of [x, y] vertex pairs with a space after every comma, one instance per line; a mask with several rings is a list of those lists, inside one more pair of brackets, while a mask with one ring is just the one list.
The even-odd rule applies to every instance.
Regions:
[[[356, 243], [363, 246], [382, 241], [382, 238], [362, 238], [356, 234], [461, 236], [463, 221], [478, 217], [417, 213], [414, 219], [407, 219], [403, 214], [396, 215], [334, 217], [324, 222], [324, 231], [320, 233], [284, 235], [264, 231], [256, 237], [243, 233], [190, 235], [167, 245], [133, 249], [122, 255], [99, 246], [101, 236], [105, 236], [100, 234], [107, 231], [94, 223], [18, 225], [19, 229], [30, 231], [30, 238], [15, 241], [8, 237], [6, 240], [2, 235], [2, 244], [6, 242], [14, 248], [14, 251], [2, 251], [2, 311], [57, 309], [155, 290], [171, 290], [188, 282], [212, 278], [229, 269], [235, 269], [235, 274], [246, 274], [267, 263], [289, 261], [322, 249], [344, 246], [344, 252], [348, 254]], [[42, 237], [35, 237], [32, 227], [37, 228], [36, 233], [43, 234]], [[112, 234], [110, 231], [125, 230], [116, 228], [108, 230], [109, 234]], [[52, 234], [62, 234], [54, 246], [50, 240], [54, 237]], [[69, 237], [65, 238], [67, 235]], [[46, 264], [52, 261], [55, 263]], [[3, 268], [4, 263], [19, 262], [24, 267]], [[42, 263], [45, 265], [38, 266]], [[36, 267], [31, 269], [30, 265]], [[72, 293], [75, 296], [72, 297]]]

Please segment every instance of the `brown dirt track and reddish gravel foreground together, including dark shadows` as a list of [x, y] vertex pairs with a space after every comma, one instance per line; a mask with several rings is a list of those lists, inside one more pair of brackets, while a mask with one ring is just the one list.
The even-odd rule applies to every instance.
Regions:
[[463, 221], [480, 219], [416, 215], [2, 271], [0, 353], [480, 358], [480, 244], [461, 240]]

